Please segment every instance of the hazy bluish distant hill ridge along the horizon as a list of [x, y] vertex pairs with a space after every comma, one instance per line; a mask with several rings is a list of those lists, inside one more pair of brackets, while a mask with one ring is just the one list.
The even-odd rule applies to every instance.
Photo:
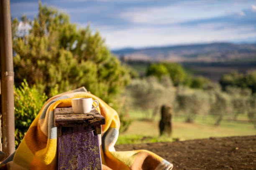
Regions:
[[256, 44], [210, 43], [112, 51], [124, 60], [169, 62], [255, 62]]

